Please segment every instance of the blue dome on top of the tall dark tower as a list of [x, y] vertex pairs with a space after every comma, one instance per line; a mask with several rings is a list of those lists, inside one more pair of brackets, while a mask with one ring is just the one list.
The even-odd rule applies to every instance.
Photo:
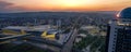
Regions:
[[123, 9], [118, 15], [119, 18], [131, 18], [131, 8]]

